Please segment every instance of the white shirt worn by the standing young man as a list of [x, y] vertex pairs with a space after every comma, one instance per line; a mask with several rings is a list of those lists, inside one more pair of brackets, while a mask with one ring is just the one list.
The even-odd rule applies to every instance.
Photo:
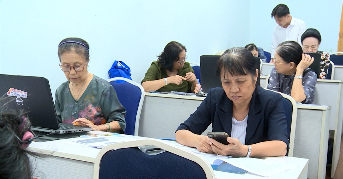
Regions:
[[292, 17], [291, 23], [288, 25], [287, 28], [281, 27], [279, 24], [276, 24], [273, 29], [272, 49], [270, 50], [271, 57], [274, 57], [275, 49], [281, 42], [293, 40], [301, 45], [300, 38], [305, 30], [305, 22], [295, 17]]

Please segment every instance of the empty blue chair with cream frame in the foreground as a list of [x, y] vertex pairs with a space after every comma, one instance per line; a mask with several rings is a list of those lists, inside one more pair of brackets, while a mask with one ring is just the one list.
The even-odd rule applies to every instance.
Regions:
[[[166, 152], [149, 155], [137, 146], [153, 145]], [[94, 179], [215, 179], [202, 157], [157, 139], [113, 143], [100, 150]]]

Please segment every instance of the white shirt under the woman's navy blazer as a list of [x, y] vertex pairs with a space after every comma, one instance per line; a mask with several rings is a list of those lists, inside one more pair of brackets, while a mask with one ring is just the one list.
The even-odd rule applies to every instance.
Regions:
[[242, 121], [238, 121], [234, 117], [232, 117], [231, 137], [238, 139], [243, 145], [245, 145], [247, 123], [248, 115]]

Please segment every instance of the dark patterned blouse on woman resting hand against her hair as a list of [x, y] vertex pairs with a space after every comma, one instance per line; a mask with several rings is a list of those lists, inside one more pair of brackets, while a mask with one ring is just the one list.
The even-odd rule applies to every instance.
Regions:
[[[310, 68], [304, 70], [307, 71]], [[291, 95], [295, 73], [291, 76], [277, 73], [275, 68], [270, 72], [270, 78], [267, 85], [267, 89], [280, 91], [282, 93]], [[317, 75], [315, 72], [307, 72], [303, 76], [303, 88], [305, 91], [306, 99], [302, 101], [303, 104], [314, 104], [315, 99], [315, 87], [317, 83]]]

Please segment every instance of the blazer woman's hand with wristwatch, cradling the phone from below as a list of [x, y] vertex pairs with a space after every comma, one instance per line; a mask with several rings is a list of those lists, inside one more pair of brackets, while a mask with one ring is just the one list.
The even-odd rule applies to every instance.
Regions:
[[243, 145], [238, 139], [228, 137], [229, 144], [224, 145], [214, 139], [210, 139], [212, 151], [218, 155], [247, 156], [248, 146]]

